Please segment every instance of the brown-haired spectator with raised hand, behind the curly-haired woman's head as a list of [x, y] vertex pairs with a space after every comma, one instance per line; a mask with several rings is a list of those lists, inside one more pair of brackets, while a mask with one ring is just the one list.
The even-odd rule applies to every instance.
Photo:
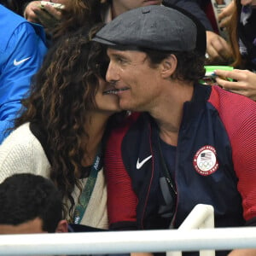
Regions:
[[42, 24], [49, 40], [56, 40], [67, 32], [75, 32], [81, 26], [92, 26], [102, 21], [99, 0], [53, 0], [64, 4], [64, 9], [55, 9], [46, 4], [40, 8], [41, 1], [26, 5], [24, 16], [27, 20]]

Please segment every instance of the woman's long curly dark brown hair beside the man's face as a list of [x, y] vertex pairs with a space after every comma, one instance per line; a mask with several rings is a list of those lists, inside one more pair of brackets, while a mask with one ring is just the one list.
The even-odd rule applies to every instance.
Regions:
[[[22, 102], [23, 112], [15, 127], [35, 122], [47, 135], [50, 179], [71, 202], [66, 212], [73, 212], [72, 192], [83, 166], [89, 136], [86, 133], [86, 111], [96, 108], [98, 77], [108, 61], [101, 44], [90, 41], [87, 30], [61, 38], [49, 49], [44, 63], [32, 79], [30, 95]], [[107, 66], [108, 67], [108, 66]]]

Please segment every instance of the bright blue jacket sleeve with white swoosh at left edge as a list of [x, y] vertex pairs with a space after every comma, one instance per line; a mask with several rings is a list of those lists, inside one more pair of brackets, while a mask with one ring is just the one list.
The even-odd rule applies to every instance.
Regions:
[[23, 22], [15, 29], [0, 61], [0, 143], [8, 135], [19, 112], [20, 100], [29, 90], [32, 75], [38, 71], [46, 53], [44, 40], [32, 25]]

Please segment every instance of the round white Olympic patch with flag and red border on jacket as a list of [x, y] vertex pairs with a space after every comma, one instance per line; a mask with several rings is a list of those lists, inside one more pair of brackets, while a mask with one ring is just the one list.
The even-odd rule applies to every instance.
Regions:
[[196, 172], [203, 176], [216, 172], [218, 169], [218, 160], [216, 158], [215, 148], [209, 145], [200, 148], [195, 154], [193, 165]]

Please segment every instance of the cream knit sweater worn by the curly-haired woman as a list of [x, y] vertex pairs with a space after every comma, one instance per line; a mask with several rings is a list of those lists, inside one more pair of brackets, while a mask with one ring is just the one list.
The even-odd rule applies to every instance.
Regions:
[[[0, 183], [15, 173], [30, 172], [49, 177], [49, 160], [37, 137], [29, 129], [29, 123], [21, 125], [7, 137], [0, 146]], [[83, 186], [87, 178], [81, 179]], [[78, 201], [79, 189], [73, 191]], [[98, 173], [89, 204], [80, 224], [108, 229], [107, 188], [103, 170]]]

